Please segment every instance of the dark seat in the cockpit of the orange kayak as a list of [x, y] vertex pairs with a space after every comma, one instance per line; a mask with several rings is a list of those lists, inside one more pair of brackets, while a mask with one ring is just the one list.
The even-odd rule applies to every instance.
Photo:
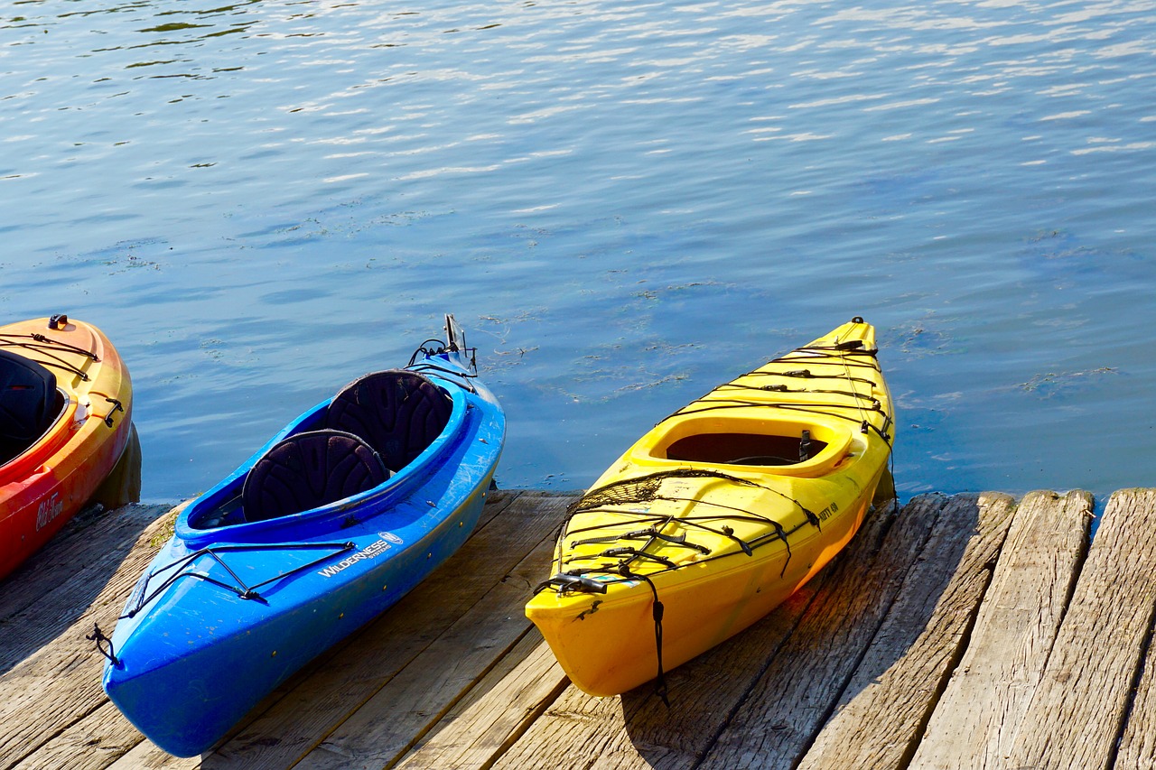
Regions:
[[0, 462], [31, 446], [58, 412], [55, 375], [30, 358], [0, 350]]

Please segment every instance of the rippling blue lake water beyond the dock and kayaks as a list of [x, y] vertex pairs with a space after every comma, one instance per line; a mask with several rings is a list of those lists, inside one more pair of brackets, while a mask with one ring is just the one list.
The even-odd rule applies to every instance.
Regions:
[[896, 486], [1154, 486], [1156, 3], [43, 0], [0, 318], [127, 360], [147, 501], [453, 312], [498, 483], [578, 489], [852, 316]]

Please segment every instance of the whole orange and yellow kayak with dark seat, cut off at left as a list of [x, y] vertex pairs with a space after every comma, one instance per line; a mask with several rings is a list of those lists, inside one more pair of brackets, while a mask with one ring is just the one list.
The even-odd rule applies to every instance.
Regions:
[[75, 516], [120, 459], [128, 370], [95, 326], [0, 326], [0, 578]]

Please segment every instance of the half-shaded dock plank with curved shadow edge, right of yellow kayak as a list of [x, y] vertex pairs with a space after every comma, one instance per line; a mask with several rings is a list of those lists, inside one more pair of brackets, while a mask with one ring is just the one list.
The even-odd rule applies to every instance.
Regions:
[[1014, 513], [1007, 495], [951, 498], [800, 768], [906, 764], [959, 659]]

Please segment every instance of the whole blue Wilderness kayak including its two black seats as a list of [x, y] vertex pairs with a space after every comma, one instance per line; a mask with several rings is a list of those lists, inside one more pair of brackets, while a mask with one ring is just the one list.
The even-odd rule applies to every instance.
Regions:
[[473, 353], [447, 316], [446, 342], [317, 405], [178, 514], [111, 639], [91, 637], [149, 740], [212, 748], [466, 541], [505, 439]]

